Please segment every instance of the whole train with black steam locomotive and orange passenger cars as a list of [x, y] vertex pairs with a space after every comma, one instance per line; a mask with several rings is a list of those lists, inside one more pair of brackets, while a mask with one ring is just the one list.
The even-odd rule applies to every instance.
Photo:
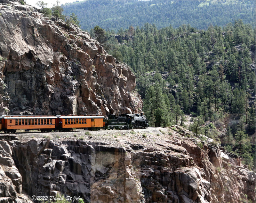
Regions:
[[0, 131], [15, 133], [18, 129], [40, 130], [41, 132], [64, 131], [71, 129], [133, 129], [148, 127], [143, 113], [124, 113], [119, 116], [102, 115], [3, 115], [0, 117]]

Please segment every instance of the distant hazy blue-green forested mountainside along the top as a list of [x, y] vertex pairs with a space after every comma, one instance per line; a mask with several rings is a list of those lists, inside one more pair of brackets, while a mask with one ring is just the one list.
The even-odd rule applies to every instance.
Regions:
[[254, 0], [86, 0], [65, 4], [63, 9], [68, 15], [74, 12], [81, 28], [88, 31], [95, 25], [117, 31], [144, 23], [156, 24], [157, 28], [190, 24], [207, 29], [236, 19], [255, 25]]

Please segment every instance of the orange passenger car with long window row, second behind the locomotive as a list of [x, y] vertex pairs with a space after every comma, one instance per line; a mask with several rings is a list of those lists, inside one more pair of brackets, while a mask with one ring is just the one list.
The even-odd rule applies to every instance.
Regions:
[[51, 132], [55, 129], [53, 115], [4, 115], [2, 118], [2, 130], [5, 133], [15, 133], [17, 129], [40, 129], [42, 132]]

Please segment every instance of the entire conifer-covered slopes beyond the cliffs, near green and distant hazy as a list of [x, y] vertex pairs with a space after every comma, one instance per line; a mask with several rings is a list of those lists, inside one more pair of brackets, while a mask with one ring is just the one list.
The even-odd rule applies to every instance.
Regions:
[[131, 67], [151, 126], [187, 127], [256, 168], [255, 2], [88, 0], [63, 9]]

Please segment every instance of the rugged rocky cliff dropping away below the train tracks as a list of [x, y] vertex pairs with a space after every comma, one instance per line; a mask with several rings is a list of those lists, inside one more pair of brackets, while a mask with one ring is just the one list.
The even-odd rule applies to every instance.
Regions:
[[0, 202], [57, 193], [95, 203], [255, 202], [256, 174], [211, 139], [178, 126], [122, 132], [0, 141]]

